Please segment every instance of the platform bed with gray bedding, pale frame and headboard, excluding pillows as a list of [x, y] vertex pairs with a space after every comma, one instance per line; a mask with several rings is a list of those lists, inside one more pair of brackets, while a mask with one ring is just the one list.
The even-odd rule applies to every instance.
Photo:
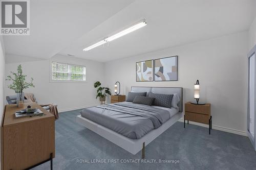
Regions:
[[[175, 124], [182, 116], [182, 88], [181, 87], [136, 87], [132, 86], [131, 91], [133, 92], [153, 92], [160, 94], [174, 94], [179, 96], [179, 103], [177, 108], [162, 108], [159, 106], [141, 106], [135, 105], [130, 102], [117, 103], [115, 105], [97, 106], [93, 108], [84, 109], [81, 115], [78, 115], [76, 121], [82, 126], [92, 130], [98, 135], [110, 140], [124, 150], [137, 154], [142, 150], [142, 159], [145, 157], [145, 146], [167, 130], [170, 126]], [[128, 111], [129, 108], [130, 111]], [[103, 110], [107, 110], [102, 115]], [[126, 110], [125, 110], [126, 109]], [[144, 110], [140, 116], [133, 116], [137, 113], [136, 110]], [[110, 110], [110, 112], [109, 112]], [[129, 119], [126, 120], [127, 115], [121, 114], [122, 112], [130, 112]], [[148, 110], [154, 113], [148, 117]], [[112, 112], [111, 112], [112, 111]], [[114, 114], [120, 113], [120, 114]], [[167, 115], [167, 113], [169, 115]], [[112, 120], [108, 119], [110, 114], [116, 118]], [[103, 117], [102, 117], [102, 116]], [[136, 114], [135, 114], [136, 115]], [[158, 119], [155, 119], [158, 117]], [[139, 119], [138, 119], [139, 118]], [[119, 119], [127, 121], [127, 124], [120, 124]], [[160, 119], [160, 123], [158, 120]], [[129, 122], [129, 123], [128, 123]], [[132, 123], [131, 123], [132, 122]], [[143, 122], [140, 124], [133, 124], [133, 122]], [[135, 127], [138, 126], [138, 127]], [[155, 128], [154, 128], [155, 127]], [[130, 128], [137, 129], [130, 130]], [[140, 130], [140, 129], [143, 130]]]

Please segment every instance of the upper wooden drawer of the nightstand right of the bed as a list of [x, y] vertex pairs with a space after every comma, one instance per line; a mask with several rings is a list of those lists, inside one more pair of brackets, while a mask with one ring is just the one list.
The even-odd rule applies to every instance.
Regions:
[[210, 115], [210, 104], [206, 103], [205, 105], [194, 105], [186, 103], [185, 111]]

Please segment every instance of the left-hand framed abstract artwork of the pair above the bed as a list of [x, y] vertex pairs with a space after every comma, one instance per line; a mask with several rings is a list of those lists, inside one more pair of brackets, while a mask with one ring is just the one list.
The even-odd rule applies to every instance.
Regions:
[[136, 82], [154, 81], [154, 60], [136, 62]]

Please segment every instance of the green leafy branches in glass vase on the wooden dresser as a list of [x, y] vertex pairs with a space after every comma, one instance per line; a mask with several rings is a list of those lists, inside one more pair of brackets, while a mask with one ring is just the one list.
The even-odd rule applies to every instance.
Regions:
[[17, 72], [12, 72], [12, 76], [7, 76], [6, 80], [12, 81], [12, 84], [8, 86], [9, 89], [12, 89], [17, 94], [17, 106], [19, 103], [24, 103], [24, 89], [29, 87], [35, 87], [33, 84], [33, 78], [31, 82], [26, 82], [26, 75], [23, 75], [22, 65], [18, 65]]

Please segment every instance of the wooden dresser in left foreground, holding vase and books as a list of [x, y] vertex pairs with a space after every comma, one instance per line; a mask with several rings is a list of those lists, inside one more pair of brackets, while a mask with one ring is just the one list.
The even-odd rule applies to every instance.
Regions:
[[[55, 117], [36, 103], [45, 115], [15, 118], [16, 104], [6, 105], [1, 124], [1, 169], [26, 169], [55, 157]], [[50, 168], [49, 168], [50, 169]]]

